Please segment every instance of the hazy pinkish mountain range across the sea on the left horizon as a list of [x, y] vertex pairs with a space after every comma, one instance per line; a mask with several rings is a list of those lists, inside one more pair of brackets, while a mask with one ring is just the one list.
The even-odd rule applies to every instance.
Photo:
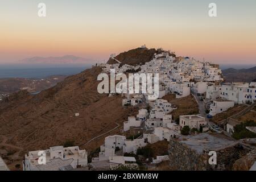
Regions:
[[73, 55], [65, 55], [62, 57], [30, 57], [20, 60], [20, 63], [28, 64], [85, 64], [93, 63], [93, 59], [86, 59]]

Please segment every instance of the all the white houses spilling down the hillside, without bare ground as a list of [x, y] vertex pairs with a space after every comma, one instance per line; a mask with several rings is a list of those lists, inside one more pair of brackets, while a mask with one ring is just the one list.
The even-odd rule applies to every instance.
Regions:
[[[191, 129], [208, 131], [207, 121], [200, 115], [180, 115], [179, 124], [172, 120], [171, 112], [176, 106], [163, 100], [166, 94], [176, 94], [182, 98], [194, 94], [205, 94], [210, 101], [210, 115], [216, 115], [233, 107], [234, 104], [254, 102], [256, 100], [256, 83], [251, 84], [223, 84], [221, 70], [217, 65], [200, 62], [190, 57], [172, 57], [170, 52], [155, 54], [154, 59], [144, 65], [131, 66], [127, 64], [101, 64], [102, 71], [109, 73], [125, 73], [129, 70], [138, 73], [159, 73], [159, 98], [148, 100], [147, 94], [122, 94], [122, 105], [137, 106], [146, 104], [150, 109], [141, 109], [136, 117], [129, 117], [123, 123], [123, 131], [141, 129], [141, 134], [136, 139], [127, 139], [122, 135], [113, 135], [105, 138], [105, 143], [100, 147], [97, 158], [92, 158], [89, 164], [95, 169], [112, 168], [123, 165], [136, 165], [136, 159], [123, 156], [125, 153], [136, 154], [138, 148], [148, 143], [161, 140], [170, 141], [179, 138], [181, 129], [189, 126]], [[112, 55], [114, 59], [114, 55]], [[220, 84], [221, 83], [221, 84]], [[145, 107], [144, 107], [145, 108]], [[140, 133], [141, 132], [141, 133]], [[65, 170], [88, 166], [87, 153], [79, 147], [51, 147], [46, 150], [46, 165], [38, 164], [38, 152], [32, 151], [25, 156], [24, 170]], [[168, 156], [157, 156], [152, 163], [168, 160]]]

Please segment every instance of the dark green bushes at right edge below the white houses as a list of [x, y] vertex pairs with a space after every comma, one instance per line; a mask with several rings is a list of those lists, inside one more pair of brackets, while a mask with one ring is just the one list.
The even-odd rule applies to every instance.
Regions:
[[236, 125], [234, 127], [234, 133], [232, 135], [235, 139], [243, 139], [243, 138], [256, 138], [256, 134], [247, 130], [246, 126], [256, 126], [256, 123], [253, 120], [246, 121], [241, 123], [240, 125]]

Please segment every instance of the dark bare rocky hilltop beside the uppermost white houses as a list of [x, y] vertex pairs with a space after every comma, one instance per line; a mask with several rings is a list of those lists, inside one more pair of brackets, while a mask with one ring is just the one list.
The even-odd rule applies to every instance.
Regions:
[[[145, 64], [149, 61], [151, 61], [154, 58], [155, 53], [161, 53], [163, 52], [160, 49], [147, 49], [147, 48], [136, 48], [131, 49], [127, 52], [119, 53], [119, 55], [115, 56], [114, 58], [120, 61], [122, 64], [130, 64], [130, 65], [138, 65], [138, 64]], [[173, 54], [175, 57], [176, 55]], [[117, 61], [109, 58], [108, 64], [115, 64]]]

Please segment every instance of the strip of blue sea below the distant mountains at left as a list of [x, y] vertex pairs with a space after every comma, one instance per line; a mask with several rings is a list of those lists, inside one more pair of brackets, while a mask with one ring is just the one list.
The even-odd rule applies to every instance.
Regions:
[[76, 75], [91, 68], [92, 64], [81, 65], [34, 65], [34, 64], [0, 64], [0, 78], [45, 78], [56, 75]]

